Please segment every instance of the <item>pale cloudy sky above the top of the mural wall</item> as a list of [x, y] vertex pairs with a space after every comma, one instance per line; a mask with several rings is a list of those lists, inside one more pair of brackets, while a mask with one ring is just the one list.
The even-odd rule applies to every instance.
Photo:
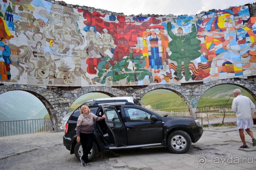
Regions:
[[63, 0], [68, 4], [105, 9], [124, 15], [195, 15], [209, 9], [227, 9], [254, 3], [255, 0]]

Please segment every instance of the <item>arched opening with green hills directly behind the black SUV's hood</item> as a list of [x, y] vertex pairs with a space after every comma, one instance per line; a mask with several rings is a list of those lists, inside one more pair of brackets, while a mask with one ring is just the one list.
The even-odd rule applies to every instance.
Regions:
[[141, 98], [146, 108], [150, 108], [160, 114], [187, 115], [190, 110], [185, 100], [176, 91], [156, 89], [149, 91]]

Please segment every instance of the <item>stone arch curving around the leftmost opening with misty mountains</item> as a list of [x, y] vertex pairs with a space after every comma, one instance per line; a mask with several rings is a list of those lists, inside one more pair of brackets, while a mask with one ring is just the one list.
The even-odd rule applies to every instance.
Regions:
[[43, 105], [47, 109], [48, 114], [50, 116], [50, 120], [51, 120], [51, 130], [56, 131], [57, 130], [57, 116], [55, 114], [54, 108], [52, 107], [52, 105], [49, 103], [49, 101], [45, 97], [43, 97], [42, 95], [38, 94], [35, 91], [36, 89], [38, 90], [39, 88], [36, 88], [34, 86], [29, 86], [29, 85], [1, 85], [0, 86], [0, 94], [3, 94], [8, 91], [20, 90], [20, 91], [29, 92], [30, 94], [34, 95], [43, 103]]

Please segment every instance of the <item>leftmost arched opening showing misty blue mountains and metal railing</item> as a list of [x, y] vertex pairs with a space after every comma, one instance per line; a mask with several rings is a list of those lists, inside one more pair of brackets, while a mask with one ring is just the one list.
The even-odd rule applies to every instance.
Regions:
[[41, 95], [14, 90], [0, 95], [1, 136], [56, 130], [56, 115]]

